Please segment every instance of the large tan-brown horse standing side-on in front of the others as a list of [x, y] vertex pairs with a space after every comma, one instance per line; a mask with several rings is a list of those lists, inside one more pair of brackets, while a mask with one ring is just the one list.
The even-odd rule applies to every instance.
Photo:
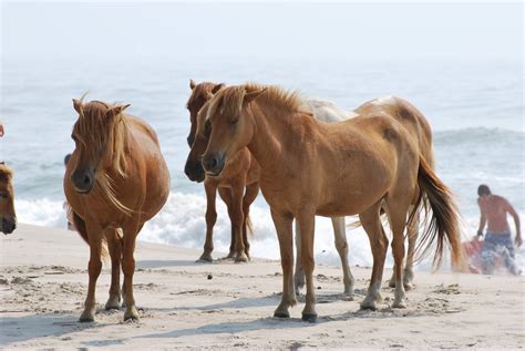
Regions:
[[[277, 229], [284, 272], [282, 300], [276, 317], [289, 317], [296, 304], [292, 281], [292, 220], [301, 231], [301, 261], [307, 295], [302, 319], [316, 321], [313, 231], [316, 215], [359, 215], [373, 255], [372, 277], [361, 308], [375, 309], [388, 238], [381, 208], [393, 233], [394, 308], [405, 307], [403, 286], [404, 229], [410, 207], [428, 204], [431, 225], [423, 234], [425, 250], [436, 241], [434, 264], [443, 246], [452, 247], [453, 267], [463, 268], [456, 207], [418, 143], [402, 124], [384, 113], [362, 114], [340, 123], [323, 123], [300, 110], [295, 94], [255, 84], [220, 90], [210, 101], [212, 132], [203, 166], [220, 175], [239, 149], [248, 147], [261, 167], [260, 187]], [[409, 220], [408, 220], [409, 218]]]

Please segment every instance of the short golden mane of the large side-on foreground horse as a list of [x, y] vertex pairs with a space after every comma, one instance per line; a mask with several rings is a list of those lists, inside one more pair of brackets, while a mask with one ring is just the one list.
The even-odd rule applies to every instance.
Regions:
[[257, 101], [286, 112], [301, 111], [301, 99], [298, 92], [286, 91], [275, 85], [247, 83], [220, 90], [212, 100], [207, 117], [214, 115], [217, 111], [220, 114], [237, 115], [243, 107], [245, 95], [256, 91], [262, 91]]

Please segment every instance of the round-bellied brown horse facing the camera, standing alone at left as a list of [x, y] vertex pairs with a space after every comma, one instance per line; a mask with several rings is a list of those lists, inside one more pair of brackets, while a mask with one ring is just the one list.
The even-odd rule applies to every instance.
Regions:
[[169, 173], [155, 132], [144, 121], [124, 114], [128, 105], [73, 100], [73, 106], [79, 118], [71, 135], [75, 149], [66, 166], [64, 193], [74, 225], [90, 245], [90, 282], [80, 321], [94, 320], [103, 241], [112, 264], [105, 309], [120, 308], [122, 266], [124, 320], [138, 319], [133, 297], [135, 241], [144, 223], [164, 206]]

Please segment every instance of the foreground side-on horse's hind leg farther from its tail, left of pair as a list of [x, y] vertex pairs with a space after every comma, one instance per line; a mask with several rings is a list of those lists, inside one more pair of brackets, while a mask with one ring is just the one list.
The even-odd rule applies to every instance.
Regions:
[[381, 225], [381, 218], [379, 216], [379, 209], [381, 202], [367, 209], [364, 213], [359, 214], [359, 220], [361, 221], [364, 231], [367, 231], [370, 240], [370, 247], [373, 256], [372, 277], [370, 279], [370, 286], [364, 300], [361, 302], [362, 309], [377, 309], [377, 302], [381, 299], [381, 279], [383, 276], [384, 259], [387, 256], [387, 247], [389, 240], [384, 234], [383, 226]]

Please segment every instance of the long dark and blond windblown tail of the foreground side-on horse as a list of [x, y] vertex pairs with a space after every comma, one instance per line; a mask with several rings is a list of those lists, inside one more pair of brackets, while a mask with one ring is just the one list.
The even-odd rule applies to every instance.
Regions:
[[429, 207], [432, 209], [430, 224], [423, 231], [421, 241], [416, 247], [418, 252], [420, 249], [423, 249], [418, 259], [426, 256], [431, 245], [437, 240], [433, 266], [434, 268], [439, 267], [443, 257], [443, 246], [446, 240], [446, 244], [451, 248], [452, 268], [456, 271], [464, 271], [466, 265], [463, 246], [461, 245], [459, 226], [460, 214], [454, 203], [452, 192], [437, 178], [432, 167], [422, 156], [420, 156], [418, 185], [421, 192], [413, 214], [419, 210], [420, 206], [425, 208], [426, 214], [429, 213]]

